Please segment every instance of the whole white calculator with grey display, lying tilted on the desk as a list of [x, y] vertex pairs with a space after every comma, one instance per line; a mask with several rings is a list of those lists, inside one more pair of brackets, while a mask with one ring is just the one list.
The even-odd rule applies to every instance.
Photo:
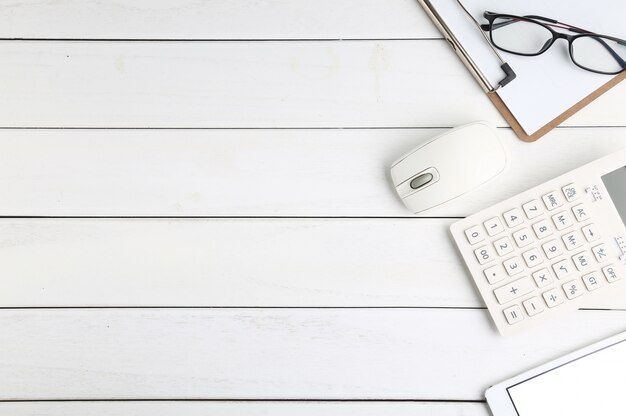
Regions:
[[626, 149], [451, 226], [502, 335], [626, 294]]

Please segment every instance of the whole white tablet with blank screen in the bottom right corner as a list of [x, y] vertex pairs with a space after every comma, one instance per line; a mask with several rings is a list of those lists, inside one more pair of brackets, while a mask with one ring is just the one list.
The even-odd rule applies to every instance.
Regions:
[[626, 415], [626, 332], [490, 387], [494, 416]]

